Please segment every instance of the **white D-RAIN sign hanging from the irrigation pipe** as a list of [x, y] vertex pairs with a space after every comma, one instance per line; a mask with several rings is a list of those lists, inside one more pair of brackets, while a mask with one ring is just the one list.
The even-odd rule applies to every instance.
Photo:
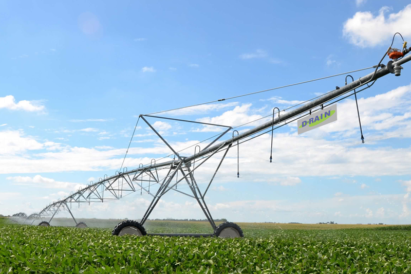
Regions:
[[332, 105], [305, 116], [297, 121], [298, 134], [316, 129], [317, 127], [337, 121], [337, 105]]

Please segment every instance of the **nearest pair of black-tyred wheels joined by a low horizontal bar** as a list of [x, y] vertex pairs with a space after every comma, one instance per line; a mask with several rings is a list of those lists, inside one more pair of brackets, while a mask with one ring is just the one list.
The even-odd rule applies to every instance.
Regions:
[[213, 234], [162, 234], [162, 233], [147, 233], [145, 228], [137, 221], [126, 220], [119, 223], [111, 232], [115, 236], [123, 235], [159, 235], [159, 236], [194, 236], [194, 237], [207, 237], [214, 236], [220, 238], [241, 238], [244, 237], [241, 228], [234, 223], [224, 222], [214, 229]]

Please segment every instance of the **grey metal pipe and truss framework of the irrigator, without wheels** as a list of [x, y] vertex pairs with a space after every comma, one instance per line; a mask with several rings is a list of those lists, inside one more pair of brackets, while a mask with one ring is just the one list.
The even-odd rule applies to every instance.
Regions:
[[[196, 199], [204, 215], [206, 215], [207, 220], [209, 221], [210, 225], [213, 228], [215, 228], [216, 225], [211, 216], [210, 210], [204, 200], [204, 197], [206, 196], [210, 188], [210, 185], [212, 184], [212, 181], [214, 180], [215, 175], [217, 174], [221, 166], [222, 161], [225, 159], [229, 149], [232, 147], [233, 144], [235, 144], [235, 142], [237, 142], [236, 145], [238, 146], [239, 140], [243, 140], [243, 139], [245, 139], [244, 141], [251, 140], [259, 136], [256, 134], [259, 134], [261, 131], [269, 129], [269, 128], [271, 128], [269, 132], [273, 132], [274, 125], [279, 125], [282, 122], [286, 124], [289, 121], [293, 121], [299, 117], [308, 115], [308, 113], [311, 114], [312, 112], [318, 111], [324, 106], [325, 103], [331, 104], [331, 103], [335, 103], [337, 101], [343, 100], [344, 98], [353, 95], [353, 94], [347, 95], [352, 90], [358, 89], [359, 87], [362, 87], [364, 85], [367, 85], [367, 87], [361, 90], [368, 88], [369, 87], [368, 83], [370, 81], [375, 81], [388, 74], [394, 74], [394, 68], [401, 67], [401, 64], [404, 64], [408, 61], [411, 61], [411, 54], [399, 60], [389, 61], [387, 66], [382, 66], [382, 68], [376, 70], [375, 72], [372, 72], [371, 74], [361, 77], [356, 81], [353, 81], [349, 84], [346, 84], [345, 86], [342, 86], [341, 88], [336, 88], [332, 90], [331, 92], [324, 94], [323, 96], [314, 98], [313, 100], [308, 101], [307, 103], [302, 104], [300, 107], [297, 107], [290, 112], [286, 112], [283, 115], [278, 115], [278, 117], [275, 117], [275, 118], [273, 115], [272, 120], [266, 123], [263, 123], [259, 126], [256, 126], [247, 132], [238, 134], [237, 136], [234, 136], [233, 134], [232, 138], [227, 139], [217, 144], [215, 144], [215, 142], [218, 139], [220, 139], [223, 135], [225, 135], [227, 132], [232, 130], [231, 126], [211, 124], [211, 123], [202, 123], [198, 121], [189, 121], [189, 120], [160, 117], [160, 116], [153, 116], [153, 115], [140, 115], [140, 118], [142, 118], [142, 120], [144, 120], [144, 122], [165, 143], [165, 145], [167, 145], [167, 147], [170, 148], [170, 150], [175, 154], [175, 156], [178, 159], [174, 159], [172, 161], [160, 162], [160, 163], [156, 163], [154, 160], [154, 164], [152, 160], [150, 165], [147, 165], [147, 166], [141, 165], [137, 169], [130, 170], [130, 171], [128, 171], [127, 168], [124, 168], [122, 171], [118, 171], [116, 172], [115, 175], [110, 176], [110, 177], [108, 177], [107, 175], [104, 175], [104, 177], [100, 178], [98, 182], [90, 182], [90, 184], [87, 185], [86, 188], [84, 189], [80, 188], [75, 193], [70, 193], [68, 197], [64, 197], [62, 200], [53, 202], [50, 205], [46, 206], [39, 213], [33, 213], [30, 216], [27, 216], [26, 218], [30, 218], [30, 220], [31, 218], [34, 218], [34, 220], [36, 220], [36, 218], [43, 218], [43, 217], [51, 216], [50, 218], [50, 221], [51, 221], [55, 214], [59, 213], [62, 210], [68, 210], [74, 222], [76, 222], [77, 224], [77, 221], [74, 218], [70, 210], [72, 204], [78, 204], [78, 206], [80, 207], [81, 203], [89, 203], [89, 204], [92, 202], [103, 203], [109, 200], [118, 200], [122, 197], [125, 197], [129, 194], [135, 193], [140, 190], [140, 193], [144, 191], [147, 194], [150, 194], [153, 198], [150, 206], [148, 206], [147, 210], [145, 211], [141, 219], [141, 224], [143, 225], [148, 220], [148, 217], [150, 216], [150, 214], [152, 213], [152, 211], [158, 204], [161, 197], [165, 195], [167, 192], [169, 192], [170, 190], [173, 190], [178, 193], [181, 193], [181, 194], [184, 194], [186, 196]], [[361, 90], [357, 91], [357, 93], [360, 92]], [[203, 150], [200, 150], [198, 153], [194, 153], [194, 155], [191, 155], [189, 157], [182, 157], [170, 145], [170, 143], [168, 143], [161, 136], [161, 134], [154, 129], [153, 125], [151, 125], [145, 119], [145, 117], [168, 119], [168, 120], [175, 120], [175, 121], [181, 121], [181, 122], [191, 122], [191, 123], [198, 123], [198, 124], [211, 125], [211, 126], [222, 126], [222, 127], [227, 127], [227, 130], [225, 130], [223, 133], [218, 135], [214, 140], [212, 140], [211, 143], [208, 144], [207, 147], [204, 148]], [[201, 192], [200, 188], [198, 187], [197, 181], [194, 177], [194, 171], [200, 168], [204, 162], [209, 160], [216, 153], [224, 151], [224, 150], [226, 151], [223, 154], [220, 162], [218, 163], [218, 166], [206, 190], [204, 192]], [[194, 164], [194, 162], [196, 162], [196, 166], [195, 167], [193, 166], [193, 169], [191, 169], [192, 163]], [[158, 176], [158, 171], [163, 170], [163, 169], [168, 170], [167, 175], [160, 179]], [[172, 183], [173, 178], [174, 177], [177, 178], [177, 175], [179, 173], [181, 173], [182, 178], [176, 179], [176, 182]], [[181, 190], [177, 190], [176, 188], [174, 188], [174, 187], [177, 187], [177, 185], [183, 180], [189, 186], [191, 193], [185, 193]], [[148, 186], [144, 186], [144, 183], [146, 182], [148, 182]], [[154, 185], [156, 187], [158, 186], [158, 189], [156, 192], [152, 191]], [[105, 193], [107, 193], [107, 195], [104, 195]], [[21, 216], [18, 216], [18, 217], [20, 218], [20, 217], [25, 217], [25, 216], [21, 214]]]

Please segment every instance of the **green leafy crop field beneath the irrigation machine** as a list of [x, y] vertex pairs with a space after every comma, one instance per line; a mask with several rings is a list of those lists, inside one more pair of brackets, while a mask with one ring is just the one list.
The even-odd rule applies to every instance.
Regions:
[[[150, 222], [147, 230], [209, 232], [207, 225]], [[138, 238], [111, 236], [110, 229], [102, 228], [0, 224], [0, 273], [411, 271], [410, 226], [364, 229], [344, 225], [241, 224], [241, 227], [246, 236], [242, 239]]]

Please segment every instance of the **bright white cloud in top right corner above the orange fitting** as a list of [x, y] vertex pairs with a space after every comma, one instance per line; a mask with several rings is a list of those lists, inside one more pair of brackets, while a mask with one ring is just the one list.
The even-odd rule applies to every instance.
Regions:
[[[398, 13], [390, 13], [388, 7], [382, 7], [378, 15], [369, 11], [357, 12], [344, 23], [343, 35], [350, 43], [360, 47], [373, 47], [388, 43], [394, 33], [400, 32], [403, 36], [411, 35], [411, 4]], [[394, 46], [399, 47], [397, 44]], [[383, 44], [384, 46], [388, 46]]]

